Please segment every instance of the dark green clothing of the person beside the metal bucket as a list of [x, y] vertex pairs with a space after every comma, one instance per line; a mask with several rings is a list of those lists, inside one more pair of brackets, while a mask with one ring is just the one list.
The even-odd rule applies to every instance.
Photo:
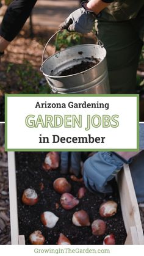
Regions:
[[144, 0], [115, 1], [98, 18], [98, 37], [107, 50], [112, 93], [135, 93], [144, 42]]

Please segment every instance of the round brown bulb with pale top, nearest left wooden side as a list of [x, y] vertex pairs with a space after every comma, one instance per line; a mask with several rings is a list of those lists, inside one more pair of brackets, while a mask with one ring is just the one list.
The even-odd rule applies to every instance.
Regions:
[[25, 205], [35, 205], [38, 202], [38, 196], [34, 189], [27, 188], [24, 190], [21, 200]]

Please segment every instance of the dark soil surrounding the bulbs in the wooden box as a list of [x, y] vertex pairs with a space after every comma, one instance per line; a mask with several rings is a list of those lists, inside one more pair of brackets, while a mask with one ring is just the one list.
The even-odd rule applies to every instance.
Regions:
[[[77, 191], [82, 187], [82, 183], [72, 181], [70, 174], [62, 175], [57, 170], [45, 172], [42, 168], [46, 152], [16, 152], [16, 183], [18, 192], [18, 218], [19, 233], [26, 238], [26, 244], [29, 243], [29, 235], [35, 230], [40, 230], [46, 238], [46, 244], [57, 244], [59, 234], [63, 233], [71, 241], [71, 244], [103, 244], [104, 236], [113, 233], [116, 244], [124, 244], [126, 240], [126, 230], [121, 215], [120, 198], [118, 189], [114, 183], [115, 192], [112, 196], [92, 194], [87, 191], [85, 197], [79, 199], [79, 205], [72, 210], [64, 210], [60, 206], [60, 194], [53, 189], [53, 182], [56, 178], [65, 177], [71, 183], [71, 194], [77, 196]], [[41, 190], [41, 185], [44, 188]], [[21, 196], [24, 189], [34, 188], [38, 194], [38, 203], [34, 206], [27, 206], [21, 202]], [[99, 216], [99, 206], [106, 200], [115, 200], [118, 203], [118, 211], [115, 216], [110, 218], [101, 218]], [[59, 203], [59, 208], [56, 208]], [[107, 224], [106, 234], [103, 236], [92, 235], [91, 227], [76, 227], [71, 219], [73, 213], [77, 210], [87, 211], [90, 222], [95, 219], [104, 219]], [[40, 215], [43, 211], [52, 211], [59, 217], [59, 221], [53, 229], [44, 227], [40, 221]], [[14, 229], [15, 227], [13, 227]]]

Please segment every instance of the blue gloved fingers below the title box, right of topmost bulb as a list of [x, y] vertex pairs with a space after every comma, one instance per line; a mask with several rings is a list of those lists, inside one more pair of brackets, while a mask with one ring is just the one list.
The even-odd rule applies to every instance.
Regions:
[[74, 175], [81, 174], [81, 152], [61, 152], [60, 172], [67, 174], [68, 170]]

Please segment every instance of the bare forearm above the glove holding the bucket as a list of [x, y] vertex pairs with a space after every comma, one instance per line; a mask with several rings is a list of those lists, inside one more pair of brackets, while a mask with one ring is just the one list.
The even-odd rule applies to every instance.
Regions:
[[110, 4], [110, 2], [113, 2], [113, 1], [104, 2], [102, 0], [90, 0], [85, 5], [85, 7], [87, 8], [87, 10], [92, 10], [93, 12], [98, 14], [99, 12], [101, 12], [101, 10], [106, 8]]

